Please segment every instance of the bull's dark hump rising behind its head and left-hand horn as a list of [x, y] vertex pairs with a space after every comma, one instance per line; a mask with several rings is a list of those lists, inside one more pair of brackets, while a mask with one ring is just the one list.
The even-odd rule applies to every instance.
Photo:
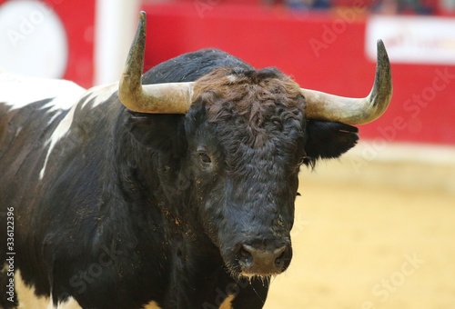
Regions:
[[144, 75], [143, 84], [192, 82], [217, 67], [252, 68], [238, 57], [218, 49], [201, 49], [151, 68]]

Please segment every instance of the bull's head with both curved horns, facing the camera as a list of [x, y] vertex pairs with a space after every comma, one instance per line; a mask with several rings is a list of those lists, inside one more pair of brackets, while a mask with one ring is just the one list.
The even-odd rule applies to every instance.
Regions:
[[366, 98], [300, 88], [276, 69], [218, 68], [191, 83], [142, 85], [146, 16], [119, 86], [129, 110], [187, 114], [185, 133], [200, 221], [233, 274], [279, 274], [291, 259], [300, 164], [337, 157], [387, 109], [389, 59], [378, 43]]

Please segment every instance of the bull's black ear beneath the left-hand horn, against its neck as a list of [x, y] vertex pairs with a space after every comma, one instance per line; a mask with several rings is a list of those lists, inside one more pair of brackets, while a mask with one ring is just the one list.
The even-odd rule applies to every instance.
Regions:
[[126, 129], [139, 144], [157, 151], [172, 149], [174, 152], [186, 145], [183, 115], [126, 113]]

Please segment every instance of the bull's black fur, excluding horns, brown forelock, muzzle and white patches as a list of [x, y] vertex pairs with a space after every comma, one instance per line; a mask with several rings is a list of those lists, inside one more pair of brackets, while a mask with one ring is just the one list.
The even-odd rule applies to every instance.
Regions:
[[[157, 65], [143, 83], [195, 81], [217, 67], [261, 75], [202, 50]], [[238, 245], [286, 245], [284, 270], [299, 164], [338, 157], [358, 138], [352, 126], [300, 111], [264, 125], [259, 147], [242, 143], [248, 125], [238, 117], [207, 121], [202, 99], [187, 115], [132, 113], [116, 94], [95, 108], [82, 108], [85, 101], [42, 180], [47, 141], [65, 115], [46, 113], [48, 101], [13, 112], [0, 104], [0, 261], [6, 208], [14, 207], [15, 270], [36, 294], [52, 293], [55, 303], [71, 295], [85, 308], [152, 300], [216, 308], [228, 294], [234, 308], [262, 307], [268, 276], [239, 278]], [[0, 284], [0, 305], [15, 308], [5, 299], [5, 272]]]

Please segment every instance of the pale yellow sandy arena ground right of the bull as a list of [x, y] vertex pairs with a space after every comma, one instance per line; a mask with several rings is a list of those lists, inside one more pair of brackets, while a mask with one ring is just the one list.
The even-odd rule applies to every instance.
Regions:
[[265, 308], [455, 309], [455, 164], [403, 157], [302, 171], [293, 261]]

